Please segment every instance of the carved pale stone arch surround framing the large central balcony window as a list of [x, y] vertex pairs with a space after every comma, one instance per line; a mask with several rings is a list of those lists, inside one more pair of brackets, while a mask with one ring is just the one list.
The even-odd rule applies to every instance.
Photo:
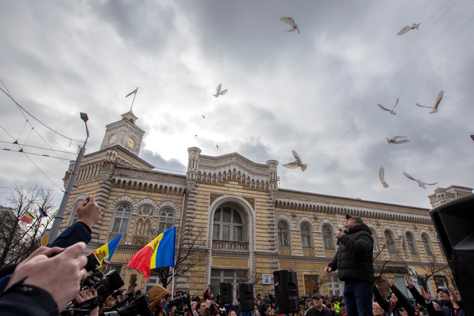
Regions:
[[[234, 168], [235, 173], [235, 168]], [[217, 197], [214, 202], [209, 206], [209, 213], [208, 213], [208, 236], [207, 236], [207, 248], [208, 248], [208, 257], [206, 262], [206, 280], [211, 279], [211, 262], [212, 262], [212, 242], [213, 242], [213, 221], [214, 221], [214, 213], [217, 208], [224, 204], [224, 203], [235, 203], [240, 206], [244, 212], [247, 214], [248, 218], [248, 236], [249, 236], [249, 270], [251, 273], [255, 272], [255, 251], [256, 251], [256, 228], [255, 228], [255, 221], [256, 221], [256, 214], [255, 210], [250, 205], [250, 203], [242, 197], [237, 196], [221, 196]]]

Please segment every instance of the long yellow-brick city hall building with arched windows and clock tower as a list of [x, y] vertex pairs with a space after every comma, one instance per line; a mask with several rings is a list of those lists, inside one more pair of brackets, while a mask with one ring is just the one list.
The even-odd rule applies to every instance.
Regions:
[[[300, 295], [342, 294], [344, 283], [336, 273], [326, 278], [323, 270], [336, 253], [334, 232], [344, 228], [346, 213], [370, 227], [376, 270], [388, 272], [405, 293], [408, 269], [424, 274], [446, 266], [427, 208], [281, 189], [278, 161], [254, 162], [238, 153], [206, 156], [197, 147], [187, 149], [185, 174], [156, 171], [138, 156], [145, 132], [136, 120], [130, 111], [106, 125], [100, 150], [84, 158], [61, 225], [77, 221], [78, 202], [96, 196], [102, 218], [86, 251], [124, 234], [110, 269], [120, 272], [128, 289], [161, 284], [156, 274], [149, 283], [125, 266], [138, 249], [175, 226], [177, 251], [189, 251], [191, 244], [199, 249], [194, 256], [199, 260], [184, 261], [190, 268], [175, 277], [175, 289], [202, 295], [211, 284], [216, 295], [220, 282], [231, 282], [236, 298], [237, 284], [250, 281], [263, 297], [274, 289], [273, 271], [291, 269]], [[65, 183], [69, 177], [70, 171]], [[438, 188], [430, 200], [441, 203], [471, 193], [464, 187]], [[449, 279], [447, 270], [438, 272], [431, 293]]]

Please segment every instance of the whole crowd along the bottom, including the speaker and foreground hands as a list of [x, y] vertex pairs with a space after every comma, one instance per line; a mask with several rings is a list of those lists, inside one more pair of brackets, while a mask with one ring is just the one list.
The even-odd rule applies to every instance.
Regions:
[[[279, 313], [280, 302], [276, 301], [272, 292], [263, 297], [257, 294], [250, 302], [254, 308], [244, 310], [239, 300], [221, 302], [220, 295], [214, 297], [208, 286], [202, 297], [198, 292], [188, 298], [183, 296], [186, 304], [182, 306], [183, 314], [180, 314], [182, 311], [177, 310], [177, 304], [171, 301], [172, 295], [163, 286], [155, 285], [146, 296], [140, 291], [126, 295], [120, 291], [109, 293], [110, 289], [105, 290], [105, 295], [102, 289], [100, 296], [98, 288], [81, 287], [81, 280], [88, 275], [84, 268], [87, 259], [82, 253], [91, 239], [91, 228], [100, 220], [101, 211], [95, 198], [89, 196], [86, 202], [79, 203], [76, 212], [78, 222], [62, 232], [49, 247], [40, 247], [23, 262], [0, 269], [0, 315], [56, 316], [73, 302], [81, 309], [71, 309], [61, 315], [112, 315], [108, 311], [121, 306], [122, 311], [126, 310], [127, 313], [115, 315], [283, 316]], [[439, 287], [433, 298], [423, 287], [418, 289], [414, 286], [409, 276], [406, 276], [406, 284], [414, 301], [409, 300], [385, 275], [382, 278], [391, 295], [384, 298], [375, 283], [371, 232], [362, 218], [347, 214], [345, 232], [338, 231], [335, 237], [338, 238], [339, 248], [324, 272], [338, 271], [339, 279], [345, 282], [344, 295], [305, 294], [300, 297], [300, 310], [294, 311], [295, 314], [467, 315], [459, 292], [453, 287]], [[132, 296], [134, 300], [130, 300]]]

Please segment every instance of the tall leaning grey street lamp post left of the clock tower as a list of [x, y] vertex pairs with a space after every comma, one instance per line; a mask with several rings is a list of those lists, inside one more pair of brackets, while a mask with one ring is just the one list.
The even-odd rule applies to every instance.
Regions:
[[74, 165], [74, 170], [71, 176], [69, 177], [68, 184], [66, 186], [63, 199], [61, 200], [61, 204], [59, 204], [59, 209], [56, 213], [56, 216], [54, 216], [54, 222], [53, 222], [53, 225], [51, 226], [51, 230], [49, 231], [49, 237], [48, 237], [48, 239], [50, 240], [49, 243], [52, 243], [52, 241], [56, 239], [56, 237], [58, 236], [59, 226], [61, 226], [61, 222], [64, 218], [64, 211], [66, 209], [66, 204], [69, 200], [69, 197], [71, 196], [71, 191], [73, 189], [74, 184], [76, 183], [79, 169], [81, 168], [82, 159], [84, 158], [84, 154], [86, 153], [87, 139], [89, 139], [89, 129], [87, 128], [87, 120], [89, 120], [89, 118], [87, 117], [86, 113], [81, 113], [81, 119], [86, 124], [87, 137], [86, 137], [86, 140], [84, 141], [84, 145], [79, 149], [79, 154], [76, 159], [76, 164]]

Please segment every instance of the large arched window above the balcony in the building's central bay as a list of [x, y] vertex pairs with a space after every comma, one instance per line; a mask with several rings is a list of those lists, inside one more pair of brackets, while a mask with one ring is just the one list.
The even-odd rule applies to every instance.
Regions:
[[213, 239], [244, 241], [244, 224], [238, 210], [223, 206], [215, 211]]

